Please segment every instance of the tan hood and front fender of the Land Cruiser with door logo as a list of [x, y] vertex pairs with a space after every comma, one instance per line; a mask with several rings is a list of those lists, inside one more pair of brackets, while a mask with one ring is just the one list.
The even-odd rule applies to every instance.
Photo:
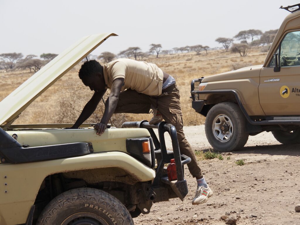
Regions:
[[[202, 83], [208, 82], [208, 84], [204, 88], [204, 91], [235, 90], [238, 92], [241, 102], [250, 116], [264, 115], [258, 98], [260, 69], [261, 66], [256, 66], [253, 68], [247, 67], [240, 70], [231, 71], [229, 73], [205, 77], [202, 80]], [[199, 95], [199, 99], [207, 100], [206, 104], [211, 104], [212, 102], [210, 101], [210, 98], [214, 98], [213, 96], [214, 95]], [[215, 103], [223, 102], [222, 96], [217, 96], [217, 98], [219, 98], [220, 101], [215, 101]], [[244, 101], [244, 99], [247, 99], [247, 101]], [[228, 99], [226, 99], [226, 101], [228, 101]]]

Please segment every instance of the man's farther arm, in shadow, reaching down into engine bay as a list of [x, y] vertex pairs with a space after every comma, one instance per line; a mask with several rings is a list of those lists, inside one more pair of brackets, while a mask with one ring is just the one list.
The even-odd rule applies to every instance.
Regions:
[[79, 126], [87, 120], [92, 113], [96, 110], [101, 98], [103, 97], [104, 93], [107, 89], [104, 89], [103, 91], [99, 91], [94, 93], [94, 95], [91, 97], [90, 101], [88, 101], [87, 104], [85, 104], [85, 107], [83, 108], [80, 116], [78, 117], [75, 124], [70, 129], [77, 129]]

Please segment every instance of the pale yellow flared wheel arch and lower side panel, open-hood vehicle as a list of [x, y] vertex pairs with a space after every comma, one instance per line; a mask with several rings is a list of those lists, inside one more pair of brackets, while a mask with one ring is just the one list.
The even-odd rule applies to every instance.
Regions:
[[[38, 190], [48, 175], [69, 171], [117, 167], [133, 182], [153, 181], [155, 171], [124, 152], [101, 152], [80, 157], [26, 164], [0, 164], [0, 224], [26, 222]], [[132, 173], [134, 171], [134, 173]]]

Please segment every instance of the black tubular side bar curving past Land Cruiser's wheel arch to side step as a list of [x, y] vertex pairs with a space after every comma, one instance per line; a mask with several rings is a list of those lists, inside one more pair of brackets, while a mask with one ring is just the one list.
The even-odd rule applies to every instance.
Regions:
[[261, 121], [254, 121], [250, 118], [248, 113], [246, 112], [241, 100], [238, 96], [238, 93], [235, 90], [214, 90], [214, 91], [191, 91], [191, 94], [233, 94], [235, 99], [240, 107], [241, 111], [245, 115], [247, 121], [252, 125], [300, 125], [299, 120], [261, 120]]

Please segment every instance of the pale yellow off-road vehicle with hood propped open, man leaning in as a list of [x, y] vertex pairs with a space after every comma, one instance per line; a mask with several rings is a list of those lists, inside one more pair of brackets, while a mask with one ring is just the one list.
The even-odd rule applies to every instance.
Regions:
[[[149, 213], [154, 202], [187, 195], [182, 165], [190, 158], [180, 154], [173, 125], [125, 122], [98, 136], [93, 124], [74, 130], [62, 129], [71, 124], [13, 124], [110, 36], [116, 35], [79, 40], [0, 102], [1, 225], [132, 225], [132, 217]], [[177, 180], [169, 181], [164, 165], [173, 158]]]

